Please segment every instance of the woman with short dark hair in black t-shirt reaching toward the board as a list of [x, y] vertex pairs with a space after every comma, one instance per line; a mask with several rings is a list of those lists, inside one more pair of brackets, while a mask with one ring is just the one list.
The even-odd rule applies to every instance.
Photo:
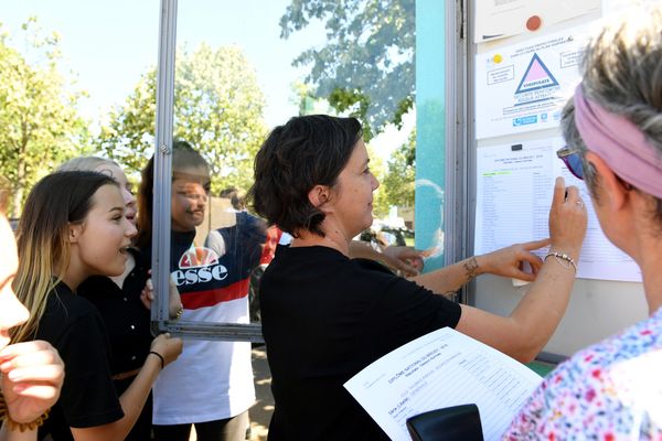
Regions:
[[[563, 179], [554, 190], [549, 240], [513, 245], [410, 280], [374, 261], [350, 259], [351, 239], [372, 224], [378, 186], [361, 135], [354, 118], [297, 117], [269, 135], [255, 160], [249, 197], [256, 212], [293, 236], [260, 287], [276, 405], [271, 440], [385, 439], [343, 388], [359, 370], [444, 326], [531, 361], [568, 303], [587, 215], [577, 189], [566, 189]], [[544, 263], [530, 252], [549, 244], [556, 257]], [[520, 269], [524, 260], [536, 276]], [[508, 318], [437, 295], [484, 272], [535, 281]]]

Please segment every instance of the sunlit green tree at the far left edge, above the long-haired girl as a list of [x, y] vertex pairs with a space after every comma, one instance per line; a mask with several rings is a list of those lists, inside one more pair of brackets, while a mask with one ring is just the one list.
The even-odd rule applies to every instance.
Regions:
[[28, 191], [62, 161], [89, 151], [87, 125], [76, 110], [81, 92], [60, 73], [58, 36], [42, 36], [36, 19], [22, 25], [23, 47], [0, 35], [0, 173], [12, 184], [11, 216]]

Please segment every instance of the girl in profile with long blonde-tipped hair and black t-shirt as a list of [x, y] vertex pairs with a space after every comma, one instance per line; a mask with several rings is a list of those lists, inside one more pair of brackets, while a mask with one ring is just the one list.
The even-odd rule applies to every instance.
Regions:
[[181, 352], [181, 340], [167, 334], [154, 338], [142, 369], [118, 397], [106, 327], [96, 308], [76, 291], [92, 276], [125, 271], [136, 234], [125, 213], [115, 179], [67, 171], [34, 186], [19, 223], [22, 263], [14, 289], [31, 318], [14, 338], [45, 340], [64, 359], [62, 395], [43, 427], [55, 441], [124, 439], [160, 370]]

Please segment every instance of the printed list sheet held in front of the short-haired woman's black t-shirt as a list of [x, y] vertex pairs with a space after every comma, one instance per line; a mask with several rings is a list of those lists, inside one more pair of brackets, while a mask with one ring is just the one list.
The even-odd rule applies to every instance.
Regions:
[[444, 327], [384, 355], [344, 387], [393, 440], [410, 440], [409, 417], [476, 404], [489, 441], [501, 438], [542, 380], [508, 355]]

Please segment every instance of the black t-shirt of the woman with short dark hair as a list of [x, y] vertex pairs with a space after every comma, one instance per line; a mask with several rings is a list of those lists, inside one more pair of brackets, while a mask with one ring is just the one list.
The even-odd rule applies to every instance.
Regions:
[[279, 247], [260, 287], [275, 411], [269, 440], [387, 439], [343, 384], [460, 306], [372, 260]]

